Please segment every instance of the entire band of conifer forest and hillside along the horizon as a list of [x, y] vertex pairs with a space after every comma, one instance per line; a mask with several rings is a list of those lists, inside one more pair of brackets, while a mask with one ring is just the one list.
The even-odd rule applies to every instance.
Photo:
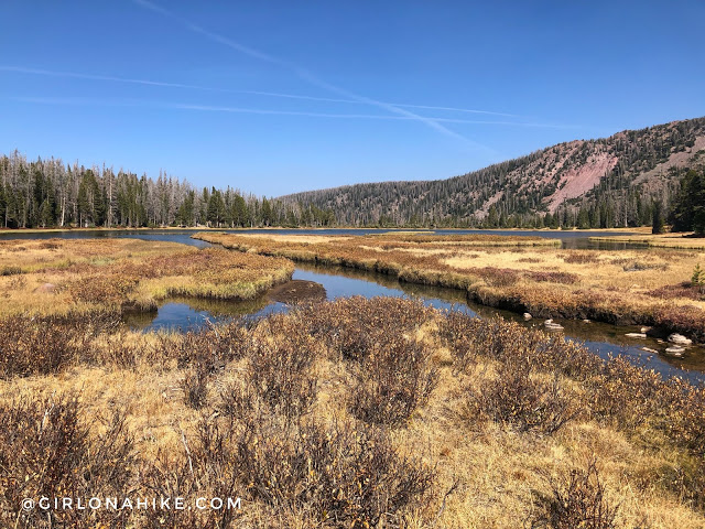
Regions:
[[258, 198], [61, 160], [0, 158], [0, 227], [480, 226], [610, 228], [669, 212], [705, 166], [705, 118], [560, 143], [462, 176]]

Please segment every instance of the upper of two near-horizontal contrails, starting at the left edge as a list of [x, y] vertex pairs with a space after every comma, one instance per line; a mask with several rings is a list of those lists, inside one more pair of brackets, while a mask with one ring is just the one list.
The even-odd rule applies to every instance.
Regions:
[[[332, 97], [316, 97], [316, 96], [304, 96], [299, 94], [281, 94], [276, 91], [261, 91], [261, 90], [236, 90], [231, 88], [218, 88], [210, 86], [202, 86], [202, 85], [189, 85], [184, 83], [171, 83], [171, 82], [162, 82], [162, 80], [151, 80], [151, 79], [137, 79], [131, 77], [116, 77], [112, 75], [100, 75], [100, 74], [85, 74], [85, 73], [76, 73], [76, 72], [57, 72], [52, 69], [43, 69], [43, 68], [26, 68], [22, 66], [0, 66], [0, 72], [17, 72], [20, 74], [31, 74], [31, 75], [46, 75], [51, 77], [73, 77], [78, 79], [94, 79], [94, 80], [108, 80], [116, 83], [128, 83], [135, 85], [147, 85], [147, 86], [164, 86], [170, 88], [186, 88], [194, 90], [206, 90], [206, 91], [219, 91], [227, 94], [251, 94], [256, 96], [269, 96], [269, 97], [280, 97], [280, 98], [289, 98], [289, 99], [303, 99], [310, 101], [325, 101], [325, 102], [346, 102], [346, 104], [361, 104], [361, 101], [356, 99], [336, 99]], [[367, 105], [367, 102], [365, 102]], [[448, 110], [455, 112], [466, 112], [466, 114], [484, 114], [490, 116], [501, 116], [506, 118], [519, 118], [516, 114], [506, 114], [506, 112], [495, 112], [491, 110], [475, 110], [468, 108], [456, 108], [456, 107], [436, 107], [430, 105], [409, 105], [402, 102], [384, 102], [384, 105], [392, 105], [394, 107], [404, 107], [404, 108], [423, 108], [429, 110]]]

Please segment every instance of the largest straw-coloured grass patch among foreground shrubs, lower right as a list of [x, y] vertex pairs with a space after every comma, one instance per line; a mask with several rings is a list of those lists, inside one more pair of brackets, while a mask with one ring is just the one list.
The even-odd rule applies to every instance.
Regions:
[[448, 490], [462, 479], [463, 487], [448, 499], [441, 527], [522, 527], [536, 506], [536, 492], [547, 494], [549, 476], [584, 468], [599, 462], [610, 500], [620, 506], [618, 527], [699, 527], [705, 517], [663, 495], [658, 486], [638, 489], [640, 474], [677, 466], [668, 445], [644, 451], [619, 432], [594, 421], [581, 420], [551, 436], [517, 434], [495, 424], [468, 432], [463, 417], [464, 384], [477, 384], [491, 364], [480, 361], [465, 380], [447, 367], [430, 404], [420, 412], [401, 442], [408, 450], [425, 449], [424, 455], [440, 468], [440, 488]]

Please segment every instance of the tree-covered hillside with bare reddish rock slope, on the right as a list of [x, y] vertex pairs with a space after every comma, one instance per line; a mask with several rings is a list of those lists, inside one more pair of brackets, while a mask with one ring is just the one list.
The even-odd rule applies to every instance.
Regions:
[[[705, 118], [560, 143], [447, 180], [297, 193], [354, 226], [609, 228], [669, 210], [688, 168], [705, 164]], [[657, 205], [658, 204], [658, 205]]]

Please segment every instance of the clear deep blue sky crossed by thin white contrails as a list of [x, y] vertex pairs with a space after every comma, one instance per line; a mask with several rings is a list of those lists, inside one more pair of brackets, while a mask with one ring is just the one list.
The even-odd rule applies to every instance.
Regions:
[[702, 1], [6, 0], [0, 17], [0, 152], [259, 195], [445, 179], [705, 115]]

